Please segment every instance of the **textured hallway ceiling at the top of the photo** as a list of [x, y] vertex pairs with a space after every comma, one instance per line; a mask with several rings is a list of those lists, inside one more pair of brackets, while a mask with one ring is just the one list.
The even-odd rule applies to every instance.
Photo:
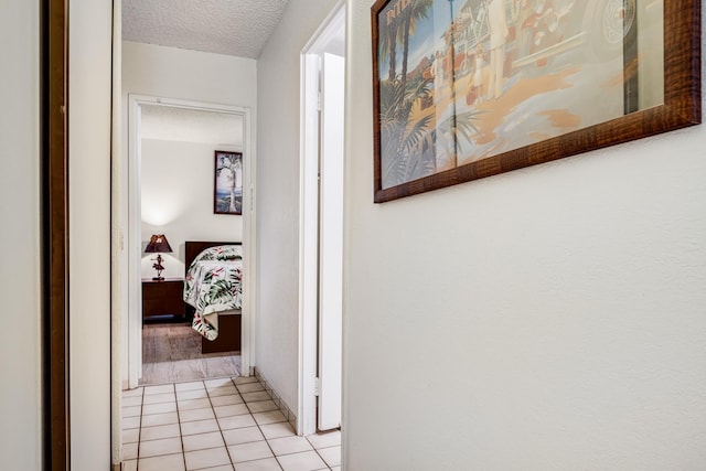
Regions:
[[257, 58], [288, 0], [122, 0], [122, 39]]

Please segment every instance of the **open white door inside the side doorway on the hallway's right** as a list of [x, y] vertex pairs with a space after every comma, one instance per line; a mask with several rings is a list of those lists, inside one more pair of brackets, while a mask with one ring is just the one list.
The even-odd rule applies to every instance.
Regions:
[[341, 426], [344, 58], [322, 55], [319, 246], [319, 430]]

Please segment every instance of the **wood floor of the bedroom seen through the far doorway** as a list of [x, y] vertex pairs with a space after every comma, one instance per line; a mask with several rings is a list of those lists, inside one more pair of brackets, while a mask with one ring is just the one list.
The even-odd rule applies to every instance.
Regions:
[[240, 375], [240, 355], [201, 353], [201, 335], [190, 323], [142, 327], [140, 385], [181, 383]]

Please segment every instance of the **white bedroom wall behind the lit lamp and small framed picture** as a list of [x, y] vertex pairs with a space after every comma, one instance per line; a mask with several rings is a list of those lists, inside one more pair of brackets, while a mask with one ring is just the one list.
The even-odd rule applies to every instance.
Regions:
[[[164, 234], [172, 254], [162, 254], [162, 276], [184, 276], [185, 240], [243, 240], [243, 216], [213, 214], [214, 151], [242, 149], [202, 142], [142, 139], [142, 248]], [[156, 276], [142, 255], [142, 278]]]

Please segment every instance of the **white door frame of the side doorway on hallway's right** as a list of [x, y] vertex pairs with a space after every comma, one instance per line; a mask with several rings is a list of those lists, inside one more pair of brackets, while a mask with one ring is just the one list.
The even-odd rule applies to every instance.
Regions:
[[325, 45], [342, 25], [345, 25], [345, 4], [339, 1], [304, 45], [300, 57], [298, 435], [311, 435], [317, 430], [319, 54], [325, 52]]

